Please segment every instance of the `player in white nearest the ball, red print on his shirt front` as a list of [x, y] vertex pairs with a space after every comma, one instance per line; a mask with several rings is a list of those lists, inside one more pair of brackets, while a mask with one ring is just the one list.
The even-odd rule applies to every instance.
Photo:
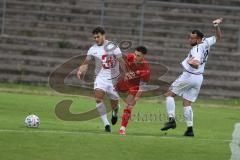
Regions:
[[104, 123], [105, 131], [111, 132], [103, 99], [105, 95], [110, 99], [111, 107], [113, 109], [111, 121], [114, 125], [117, 122], [117, 112], [119, 108], [119, 96], [114, 85], [120, 75], [119, 62], [124, 71], [125, 62], [122, 58], [121, 50], [113, 42], [106, 40], [105, 30], [102, 27], [95, 28], [92, 34], [96, 43], [88, 50], [85, 61], [78, 68], [77, 78], [80, 79], [81, 75], [86, 73], [89, 61], [94, 59], [96, 75], [94, 81], [94, 95], [96, 99], [96, 107]]

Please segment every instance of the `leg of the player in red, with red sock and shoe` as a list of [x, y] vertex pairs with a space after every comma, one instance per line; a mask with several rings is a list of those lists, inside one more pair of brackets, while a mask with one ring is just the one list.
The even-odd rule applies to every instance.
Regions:
[[119, 130], [119, 134], [125, 135], [126, 132], [126, 127], [128, 125], [128, 121], [131, 118], [132, 114], [132, 109], [136, 104], [135, 96], [132, 94], [128, 94], [127, 98], [125, 99], [126, 106], [123, 110], [123, 115], [122, 115], [122, 123], [121, 123], [121, 128]]

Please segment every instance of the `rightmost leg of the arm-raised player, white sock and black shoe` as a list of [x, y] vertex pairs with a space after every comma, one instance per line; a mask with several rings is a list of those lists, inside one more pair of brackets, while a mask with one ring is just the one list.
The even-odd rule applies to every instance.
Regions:
[[192, 111], [192, 102], [187, 100], [187, 99], [183, 99], [183, 107], [184, 107], [184, 119], [186, 121], [187, 124], [187, 130], [184, 133], [184, 136], [194, 136], [193, 133], [193, 111]]

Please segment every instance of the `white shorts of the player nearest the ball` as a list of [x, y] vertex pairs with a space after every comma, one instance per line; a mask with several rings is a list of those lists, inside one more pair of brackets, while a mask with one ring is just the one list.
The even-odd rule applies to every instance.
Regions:
[[104, 77], [96, 77], [94, 81], [94, 90], [101, 89], [103, 90], [109, 99], [118, 100], [119, 95], [114, 87], [117, 78], [113, 80], [108, 80]]

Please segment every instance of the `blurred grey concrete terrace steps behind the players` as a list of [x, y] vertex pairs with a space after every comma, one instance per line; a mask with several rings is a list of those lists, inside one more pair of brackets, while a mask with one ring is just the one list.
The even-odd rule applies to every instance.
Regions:
[[[202, 3], [239, 6], [237, 0]], [[47, 83], [49, 74], [59, 64], [87, 52], [93, 43], [91, 31], [101, 23], [100, 0], [7, 0], [6, 7], [5, 35], [0, 38], [1, 82]], [[103, 24], [108, 38], [131, 40], [136, 46], [141, 7], [137, 0], [106, 0]], [[2, 17], [2, 9], [0, 12]], [[179, 63], [190, 49], [189, 32], [199, 28], [211, 36], [211, 21], [216, 17], [225, 19], [221, 27], [223, 39], [210, 52], [201, 95], [239, 97], [239, 11], [147, 2], [142, 42], [149, 48], [149, 60], [168, 67], [169, 72], [162, 79], [171, 82], [181, 73]]]

